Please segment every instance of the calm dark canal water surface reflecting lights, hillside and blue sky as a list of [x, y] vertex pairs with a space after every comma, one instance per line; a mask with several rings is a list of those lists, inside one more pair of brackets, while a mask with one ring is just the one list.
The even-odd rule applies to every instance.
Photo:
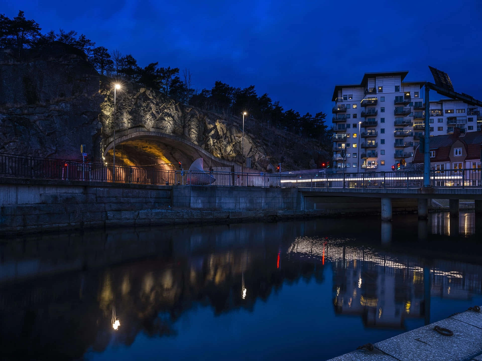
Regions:
[[[281, 359], [304, 352], [323, 360], [366, 339], [376, 342], [482, 303], [473, 214], [457, 219], [456, 247], [455, 226], [446, 214], [433, 214], [428, 222], [416, 215], [377, 222], [319, 219], [10, 240], [0, 244], [0, 347], [12, 360], [115, 359], [112, 343], [129, 352], [146, 335], [153, 342], [142, 346], [149, 358], [157, 342], [178, 359], [192, 359], [199, 350], [182, 353], [174, 340], [194, 347], [188, 330], [201, 337], [222, 315], [242, 310], [249, 327], [234, 322], [240, 327], [235, 337], [246, 352], [279, 359], [275, 350], [282, 344], [289, 350]], [[317, 303], [309, 308], [313, 298]], [[442, 301], [452, 305], [445, 314], [439, 310]], [[462, 309], [460, 302], [466, 302]], [[280, 303], [281, 313], [270, 316], [269, 309]], [[201, 309], [210, 316], [201, 317]], [[185, 326], [181, 320], [187, 315]], [[357, 331], [360, 339], [337, 341], [332, 330], [357, 327], [360, 319], [365, 326]], [[266, 324], [282, 331], [270, 338]], [[295, 342], [296, 335], [303, 341]], [[198, 342], [204, 347], [206, 340]], [[262, 351], [256, 351], [256, 342]], [[217, 343], [202, 352], [216, 358], [219, 348]]]

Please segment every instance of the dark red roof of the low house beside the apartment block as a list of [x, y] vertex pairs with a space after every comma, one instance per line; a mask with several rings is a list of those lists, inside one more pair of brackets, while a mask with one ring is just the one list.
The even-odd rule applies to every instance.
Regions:
[[[465, 160], [480, 159], [482, 131], [460, 133], [456, 129], [453, 134], [436, 135], [429, 138], [430, 150], [436, 150], [435, 158], [430, 158], [430, 161], [450, 162], [450, 149], [457, 140], [460, 140], [466, 147], [467, 156]], [[423, 139], [420, 141], [422, 142]], [[423, 153], [419, 152], [419, 146], [415, 149], [413, 163], [423, 163]]]

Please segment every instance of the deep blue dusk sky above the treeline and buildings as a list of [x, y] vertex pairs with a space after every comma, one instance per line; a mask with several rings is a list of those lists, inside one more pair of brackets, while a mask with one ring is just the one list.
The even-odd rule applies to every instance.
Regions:
[[2, 1], [43, 32], [75, 30], [138, 64], [187, 67], [195, 88], [256, 86], [285, 109], [331, 113], [335, 84], [408, 70], [482, 98], [482, 1]]

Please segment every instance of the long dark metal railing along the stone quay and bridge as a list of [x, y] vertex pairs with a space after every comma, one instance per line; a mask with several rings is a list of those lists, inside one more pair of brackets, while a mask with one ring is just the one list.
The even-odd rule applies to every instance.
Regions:
[[[263, 172], [209, 172], [211, 185], [250, 187], [335, 187], [335, 188], [420, 188], [423, 172], [359, 172], [279, 174]], [[481, 168], [430, 170], [433, 187], [482, 187]], [[208, 185], [210, 177], [200, 172], [158, 170], [147, 167], [112, 166], [60, 159], [0, 154], [0, 176], [10, 178], [51, 179], [61, 181], [100, 181], [155, 185]], [[208, 181], [206, 181], [208, 179]]]

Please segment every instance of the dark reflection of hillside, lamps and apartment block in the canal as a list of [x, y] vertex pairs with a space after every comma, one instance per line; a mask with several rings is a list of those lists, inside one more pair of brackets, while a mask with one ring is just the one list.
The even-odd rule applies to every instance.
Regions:
[[[460, 233], [474, 232], [473, 215], [461, 214], [458, 221]], [[410, 227], [419, 239], [427, 239], [428, 230], [452, 237], [445, 215], [416, 222]], [[256, 300], [268, 302], [283, 284], [327, 282], [325, 267], [333, 271], [333, 293], [326, 295], [332, 312], [361, 317], [367, 327], [402, 329], [410, 318], [429, 322], [430, 297], [482, 294], [481, 266], [391, 251], [396, 223], [381, 224], [383, 246], [321, 236], [326, 222], [320, 224], [263, 225], [263, 237], [259, 227], [240, 224], [183, 231], [182, 240], [179, 231], [164, 229], [113, 233], [99, 242], [82, 236], [68, 246], [59, 238], [43, 249], [37, 241], [4, 246], [0, 347], [7, 355], [22, 350], [34, 358], [48, 349], [51, 359], [74, 359], [87, 350], [102, 352], [114, 334], [124, 345], [139, 332], [175, 336], [176, 322], [189, 309], [252, 311]]]

